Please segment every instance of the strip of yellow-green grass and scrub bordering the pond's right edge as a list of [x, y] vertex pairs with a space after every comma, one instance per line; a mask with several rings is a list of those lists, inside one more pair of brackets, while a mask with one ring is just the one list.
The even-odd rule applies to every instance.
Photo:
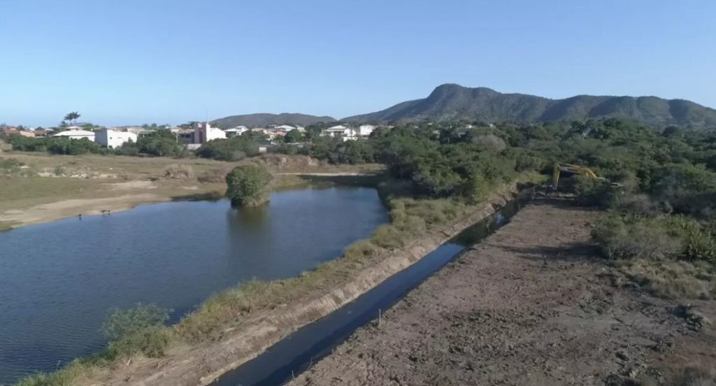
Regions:
[[[525, 173], [518, 182], [533, 182], [540, 175]], [[291, 176], [275, 187], [306, 183], [304, 178]], [[383, 202], [390, 209], [391, 221], [374, 231], [371, 238], [348, 246], [341, 258], [322, 264], [298, 277], [278, 281], [249, 281], [236, 286], [201, 304], [195, 312], [185, 316], [178, 324], [163, 326], [137, 322], [134, 318], [125, 326], [125, 334], [110, 342], [105, 350], [91, 357], [75, 360], [59, 372], [27, 377], [17, 385], [86, 385], [97, 377], [111, 372], [112, 367], [141, 360], [142, 357], [163, 357], [190, 349], [195, 344], [222, 339], [229, 331], [245, 327], [247, 320], [267, 310], [296, 304], [317, 294], [326, 294], [347, 283], [354, 275], [379, 263], [386, 254], [400, 249], [410, 241], [429, 231], [436, 231], [455, 223], [475, 211], [476, 204], [460, 198], [421, 199], [405, 196], [405, 186], [395, 181], [378, 183], [379, 178], [353, 178], [354, 183], [377, 186]], [[316, 181], [309, 178], [309, 183]], [[321, 183], [345, 183], [338, 178]], [[376, 185], [377, 184], [377, 185]], [[495, 187], [503, 190], [504, 187]], [[132, 313], [132, 311], [130, 311]]]

